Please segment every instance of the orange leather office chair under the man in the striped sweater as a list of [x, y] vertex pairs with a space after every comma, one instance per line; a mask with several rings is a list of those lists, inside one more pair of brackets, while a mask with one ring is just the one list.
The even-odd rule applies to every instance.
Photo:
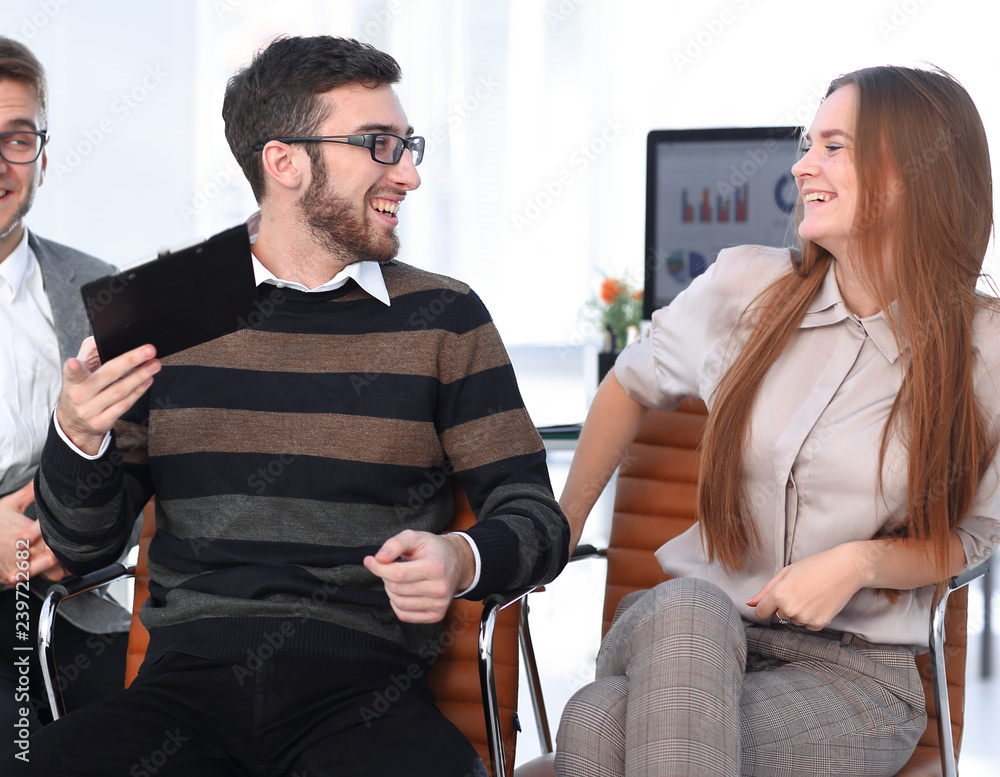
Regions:
[[[156, 528], [153, 502], [143, 513], [139, 560], [134, 567], [113, 564], [89, 575], [52, 586], [39, 617], [39, 652], [53, 718], [65, 713], [52, 655], [52, 629], [59, 602], [123, 577], [135, 578], [125, 687], [135, 679], [149, 644], [139, 622], [139, 608], [149, 594], [146, 551]], [[450, 530], [471, 526], [475, 515], [461, 489], [455, 489], [455, 517]], [[442, 632], [441, 656], [428, 674], [438, 707], [465, 734], [491, 777], [509, 775], [514, 766], [518, 663], [518, 610], [525, 592], [488, 597], [485, 602], [456, 600]], [[450, 635], [450, 636], [449, 636]]]

